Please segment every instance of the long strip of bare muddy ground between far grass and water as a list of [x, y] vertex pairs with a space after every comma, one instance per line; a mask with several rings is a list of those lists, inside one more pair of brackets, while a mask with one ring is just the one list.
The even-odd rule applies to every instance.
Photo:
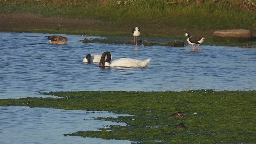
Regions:
[[[198, 30], [188, 28], [170, 28], [162, 24], [141, 23], [142, 36], [183, 37], [187, 31], [193, 34], [212, 36], [214, 30]], [[134, 24], [111, 24], [102, 20], [44, 18], [40, 14], [0, 14], [1, 32], [43, 32], [60, 34], [93, 34], [129, 36]], [[131, 30], [130, 30], [131, 29]], [[184, 36], [185, 38], [185, 36]]]

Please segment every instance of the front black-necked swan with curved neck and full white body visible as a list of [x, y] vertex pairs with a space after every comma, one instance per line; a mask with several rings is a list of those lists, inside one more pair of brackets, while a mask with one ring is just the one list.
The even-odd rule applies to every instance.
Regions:
[[[106, 60], [104, 59], [107, 56]], [[119, 58], [110, 63], [110, 52], [104, 52], [100, 59], [100, 67], [145, 67], [150, 62], [151, 58], [147, 60], [137, 60], [134, 58]]]

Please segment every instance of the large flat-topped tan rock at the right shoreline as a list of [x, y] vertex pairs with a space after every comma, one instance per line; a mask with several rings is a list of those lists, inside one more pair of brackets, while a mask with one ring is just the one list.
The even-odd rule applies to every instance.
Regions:
[[216, 42], [247, 42], [252, 41], [250, 30], [218, 30], [213, 33], [213, 40]]

